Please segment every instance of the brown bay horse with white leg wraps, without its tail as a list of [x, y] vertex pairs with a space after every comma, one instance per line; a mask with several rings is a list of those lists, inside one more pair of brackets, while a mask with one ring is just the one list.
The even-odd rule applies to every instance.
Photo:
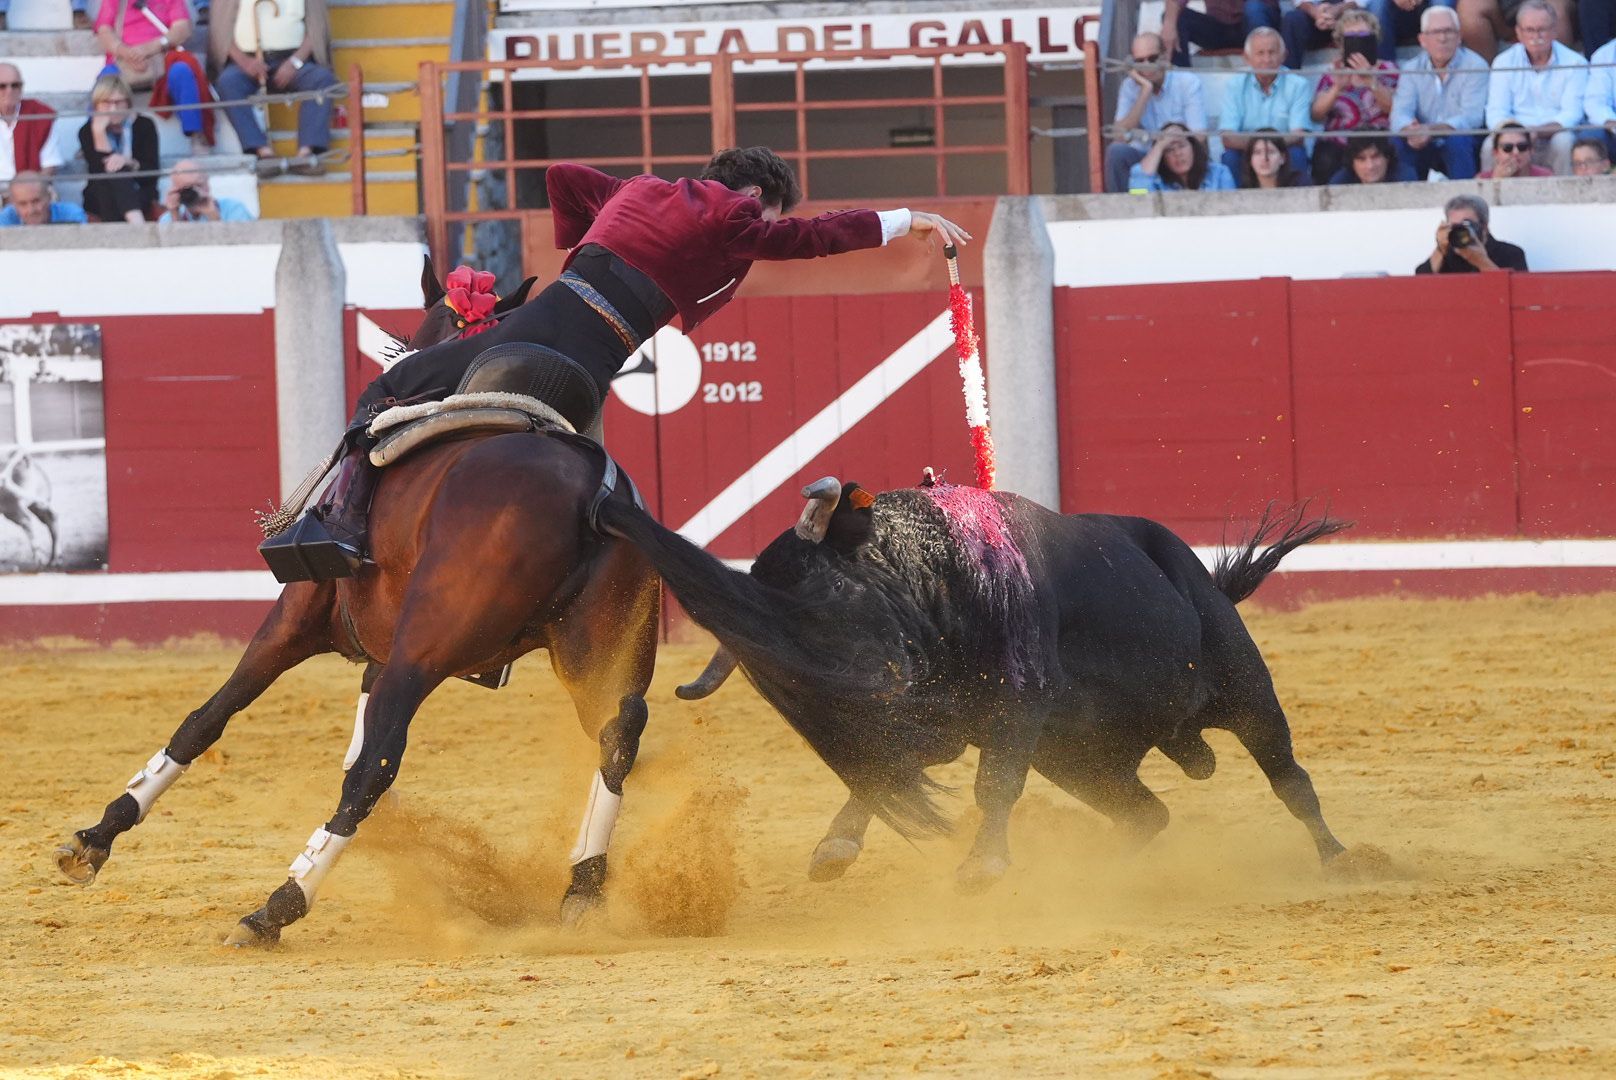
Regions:
[[[425, 294], [427, 315], [409, 348], [464, 327], [441, 310], [430, 262], [423, 285], [436, 288]], [[520, 304], [530, 285], [503, 309]], [[583, 731], [600, 744], [561, 904], [564, 925], [583, 920], [603, 904], [606, 847], [648, 719], [661, 613], [661, 580], [645, 556], [588, 524], [604, 462], [575, 437], [524, 432], [433, 443], [389, 466], [370, 508], [372, 563], [352, 577], [286, 585], [225, 686], [186, 716], [100, 823], [57, 850], [61, 873], [94, 881], [113, 841], [283, 673], [331, 652], [367, 661], [336, 812], [286, 881], [226, 939], [273, 944], [309, 912], [398, 778], [410, 719], [427, 695], [446, 679], [496, 671], [545, 648]]]

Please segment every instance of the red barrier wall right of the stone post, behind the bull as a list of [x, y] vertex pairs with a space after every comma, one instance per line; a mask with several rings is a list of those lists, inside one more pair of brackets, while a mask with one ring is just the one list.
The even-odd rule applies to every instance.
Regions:
[[1197, 543], [1299, 498], [1357, 538], [1616, 534], [1613, 297], [1611, 273], [1057, 289], [1063, 509]]

